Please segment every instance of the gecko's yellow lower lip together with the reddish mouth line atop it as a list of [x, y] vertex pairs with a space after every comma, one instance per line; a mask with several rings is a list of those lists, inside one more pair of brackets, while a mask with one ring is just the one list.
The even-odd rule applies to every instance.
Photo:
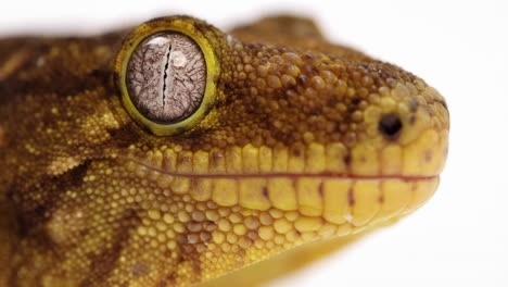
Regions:
[[[176, 195], [189, 194], [198, 201], [212, 200], [221, 207], [238, 204], [253, 210], [276, 208], [306, 216], [319, 213], [330, 222], [336, 222], [339, 216], [351, 226], [367, 226], [370, 221], [412, 212], [432, 197], [440, 182], [439, 175], [192, 174], [167, 171], [141, 159], [127, 160], [127, 169], [134, 176], [147, 177], [154, 187], [169, 188]], [[382, 209], [385, 214], [377, 216]]]

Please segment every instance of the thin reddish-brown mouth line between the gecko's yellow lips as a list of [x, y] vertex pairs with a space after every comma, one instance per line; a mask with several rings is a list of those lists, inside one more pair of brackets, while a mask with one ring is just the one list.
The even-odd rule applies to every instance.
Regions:
[[345, 179], [345, 180], [389, 180], [389, 179], [398, 179], [404, 182], [417, 182], [417, 180], [430, 180], [439, 177], [436, 175], [359, 175], [359, 174], [350, 174], [350, 173], [257, 173], [257, 174], [191, 174], [191, 173], [175, 173], [168, 172], [164, 169], [150, 165], [141, 160], [126, 158], [128, 161], [131, 161], [136, 164], [139, 164], [143, 167], [147, 167], [150, 171], [157, 172], [168, 176], [175, 177], [188, 177], [188, 178], [230, 178], [230, 179], [240, 179], [240, 178], [323, 178], [323, 179]]

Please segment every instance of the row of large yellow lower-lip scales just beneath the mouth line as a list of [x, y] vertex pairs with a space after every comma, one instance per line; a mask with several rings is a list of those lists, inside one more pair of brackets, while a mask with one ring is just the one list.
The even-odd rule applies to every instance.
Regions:
[[[325, 224], [354, 232], [414, 212], [439, 185], [431, 177], [160, 177], [174, 194], [218, 207], [271, 213], [297, 213], [301, 232]], [[344, 227], [345, 228], [345, 227]], [[339, 234], [340, 235], [340, 234]]]

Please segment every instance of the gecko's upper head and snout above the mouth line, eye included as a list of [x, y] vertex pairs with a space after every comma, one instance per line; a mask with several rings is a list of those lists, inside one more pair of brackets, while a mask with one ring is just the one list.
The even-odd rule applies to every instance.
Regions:
[[[320, 34], [306, 49], [242, 41], [245, 29], [234, 37], [173, 16], [127, 37], [115, 75], [143, 139], [177, 158], [206, 153], [202, 169], [212, 175], [409, 179], [441, 172], [448, 111], [422, 79]], [[227, 151], [242, 163], [233, 166]]]

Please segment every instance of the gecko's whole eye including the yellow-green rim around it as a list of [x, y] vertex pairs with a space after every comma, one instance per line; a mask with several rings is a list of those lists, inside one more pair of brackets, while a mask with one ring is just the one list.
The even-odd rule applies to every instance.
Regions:
[[191, 129], [215, 101], [219, 65], [213, 47], [189, 17], [162, 17], [138, 26], [115, 63], [122, 102], [140, 126], [157, 136]]

